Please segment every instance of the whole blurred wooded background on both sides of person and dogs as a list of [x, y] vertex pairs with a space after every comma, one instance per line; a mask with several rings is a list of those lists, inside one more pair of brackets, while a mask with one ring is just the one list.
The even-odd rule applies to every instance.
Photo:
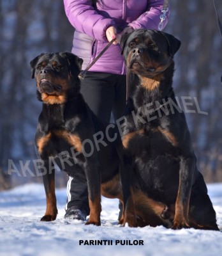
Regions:
[[[174, 90], [178, 97], [196, 97], [208, 113], [186, 113], [186, 118], [200, 172], [206, 182], [222, 182], [222, 38], [214, 5], [212, 0], [169, 2], [164, 31], [182, 42], [175, 55]], [[216, 4], [222, 20], [221, 0]], [[41, 182], [32, 177], [41, 102], [29, 62], [41, 52], [71, 51], [72, 38], [63, 1], [0, 0], [0, 190]], [[22, 164], [27, 164], [24, 175]], [[9, 175], [9, 165], [21, 176]], [[66, 186], [66, 180], [57, 172], [57, 187]]]

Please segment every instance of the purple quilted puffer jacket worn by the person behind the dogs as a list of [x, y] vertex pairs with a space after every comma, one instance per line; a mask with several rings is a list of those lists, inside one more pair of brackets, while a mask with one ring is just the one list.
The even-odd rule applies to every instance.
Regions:
[[[91, 0], [64, 0], [66, 15], [75, 28], [72, 52], [84, 60], [82, 69], [108, 44], [105, 35], [108, 27], [115, 26], [117, 33], [127, 26], [133, 29], [158, 29], [163, 2], [164, 0], [102, 0], [94, 8]], [[163, 27], [168, 21], [168, 13]], [[120, 45], [111, 45], [89, 71], [126, 74]]]

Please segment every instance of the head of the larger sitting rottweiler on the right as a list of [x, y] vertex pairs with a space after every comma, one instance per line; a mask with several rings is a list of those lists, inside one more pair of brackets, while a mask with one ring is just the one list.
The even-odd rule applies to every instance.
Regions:
[[172, 35], [150, 29], [136, 29], [121, 38], [126, 67], [143, 77], [155, 77], [170, 66], [181, 42]]

